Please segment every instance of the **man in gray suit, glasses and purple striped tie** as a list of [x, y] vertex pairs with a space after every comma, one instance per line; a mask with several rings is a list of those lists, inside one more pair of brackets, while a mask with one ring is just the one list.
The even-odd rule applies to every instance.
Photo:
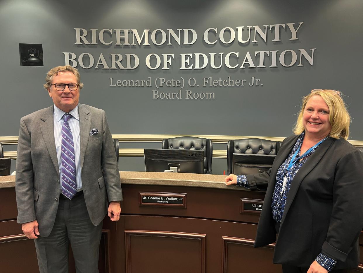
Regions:
[[76, 68], [51, 69], [44, 87], [54, 105], [20, 120], [18, 223], [35, 239], [40, 272], [68, 272], [69, 242], [77, 272], [98, 272], [102, 219], [118, 221], [122, 200], [106, 115], [78, 103]]

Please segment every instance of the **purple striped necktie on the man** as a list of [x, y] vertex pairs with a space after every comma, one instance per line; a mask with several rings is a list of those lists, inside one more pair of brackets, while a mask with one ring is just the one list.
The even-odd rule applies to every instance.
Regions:
[[62, 125], [62, 194], [72, 199], [77, 193], [76, 156], [74, 153], [73, 135], [68, 124], [71, 114], [64, 114]]

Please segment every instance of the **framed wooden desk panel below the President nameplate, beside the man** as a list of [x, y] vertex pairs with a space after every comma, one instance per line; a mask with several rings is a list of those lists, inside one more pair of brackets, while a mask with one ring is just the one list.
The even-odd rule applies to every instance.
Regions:
[[125, 248], [127, 273], [205, 273], [205, 234], [125, 230]]

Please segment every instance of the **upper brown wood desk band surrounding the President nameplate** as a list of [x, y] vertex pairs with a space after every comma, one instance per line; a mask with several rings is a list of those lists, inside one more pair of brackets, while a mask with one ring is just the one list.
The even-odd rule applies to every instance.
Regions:
[[[139, 192], [187, 193], [187, 209], [155, 208], [139, 206]], [[141, 215], [173, 215], [180, 217], [195, 217], [221, 219], [257, 223], [259, 213], [240, 213], [240, 198], [264, 199], [263, 192], [233, 191], [224, 189], [209, 189], [199, 187], [155, 186], [155, 185], [122, 185], [124, 200], [121, 202], [123, 214]]]

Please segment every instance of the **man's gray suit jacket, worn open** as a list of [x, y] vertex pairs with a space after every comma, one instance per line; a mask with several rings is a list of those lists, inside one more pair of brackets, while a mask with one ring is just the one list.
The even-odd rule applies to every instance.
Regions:
[[[56, 218], [60, 185], [54, 142], [54, 105], [20, 120], [16, 161], [18, 223], [37, 220], [47, 237]], [[105, 111], [78, 104], [82, 188], [89, 217], [98, 225], [107, 214], [108, 201], [122, 200], [120, 176]], [[91, 128], [99, 133], [90, 136]]]

